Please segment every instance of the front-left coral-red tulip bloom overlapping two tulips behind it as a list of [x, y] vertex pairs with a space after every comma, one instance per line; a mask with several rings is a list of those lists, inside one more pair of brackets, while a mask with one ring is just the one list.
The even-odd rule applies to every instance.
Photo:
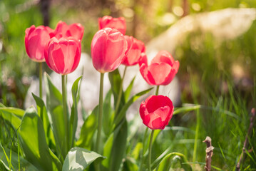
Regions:
[[81, 41], [73, 37], [51, 38], [46, 51], [46, 63], [56, 73], [66, 75], [78, 66], [81, 57]]

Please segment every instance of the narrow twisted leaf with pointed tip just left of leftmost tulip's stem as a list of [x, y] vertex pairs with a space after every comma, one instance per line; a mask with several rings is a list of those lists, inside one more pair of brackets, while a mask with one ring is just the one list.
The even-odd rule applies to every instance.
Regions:
[[53, 137], [53, 132], [51, 130], [51, 126], [48, 120], [48, 115], [47, 115], [47, 110], [46, 110], [46, 105], [44, 104], [43, 100], [39, 98], [37, 95], [32, 93], [34, 100], [36, 101], [36, 107], [37, 107], [37, 112], [39, 114], [39, 117], [41, 118], [43, 122], [43, 130], [44, 133], [46, 134], [46, 142], [48, 145], [53, 145], [55, 147], [55, 140]]

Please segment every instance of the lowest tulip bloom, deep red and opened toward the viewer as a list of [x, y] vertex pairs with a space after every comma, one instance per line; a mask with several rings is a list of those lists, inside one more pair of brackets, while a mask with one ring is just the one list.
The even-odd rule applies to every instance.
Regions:
[[151, 130], [163, 130], [173, 117], [173, 102], [167, 96], [150, 95], [140, 104], [140, 118]]

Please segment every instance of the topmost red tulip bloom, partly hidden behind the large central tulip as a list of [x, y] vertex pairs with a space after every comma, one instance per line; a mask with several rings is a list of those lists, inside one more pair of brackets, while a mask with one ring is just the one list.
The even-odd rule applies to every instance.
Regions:
[[102, 28], [116, 28], [123, 35], [126, 34], [126, 19], [123, 17], [113, 18], [112, 16], [103, 16], [103, 18], [98, 19], [98, 27]]

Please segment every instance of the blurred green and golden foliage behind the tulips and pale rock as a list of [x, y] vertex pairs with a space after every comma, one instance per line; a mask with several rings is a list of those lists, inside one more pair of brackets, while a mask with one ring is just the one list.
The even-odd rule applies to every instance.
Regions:
[[[44, 0], [45, 1], [45, 0]], [[149, 42], [184, 16], [225, 8], [255, 8], [255, 0], [52, 0], [49, 26], [58, 21], [81, 23], [85, 28], [82, 51], [90, 53], [91, 39], [98, 30], [98, 17], [111, 15], [126, 18], [128, 35]], [[39, 0], [0, 0], [0, 102], [23, 108], [26, 90], [37, 76], [36, 63], [26, 55], [24, 35], [31, 25], [42, 25]], [[161, 142], [155, 156], [171, 144], [170, 149], [183, 152], [189, 161], [204, 161], [205, 145], [193, 155], [196, 130], [198, 139], [210, 135], [215, 146], [214, 165], [231, 170], [242, 150], [250, 110], [256, 104], [256, 23], [242, 36], [218, 42], [210, 33], [190, 33], [173, 56], [180, 61], [178, 78], [182, 102], [205, 106], [205, 109], [177, 116], [172, 126], [188, 130], [166, 130], [160, 136], [170, 138]], [[44, 66], [47, 70], [47, 66]], [[209, 110], [212, 108], [212, 110]], [[213, 110], [213, 108], [215, 110]], [[221, 109], [221, 110], [219, 110]], [[235, 113], [240, 120], [229, 118], [225, 111]], [[191, 115], [193, 114], [193, 115]], [[198, 118], [195, 115], [200, 116]], [[195, 124], [198, 122], [199, 124]], [[1, 123], [1, 122], [0, 122]], [[256, 144], [255, 131], [250, 145]], [[2, 142], [3, 143], [3, 142]], [[192, 150], [191, 150], [192, 149]], [[224, 149], [224, 150], [223, 150]], [[255, 150], [247, 157], [248, 169], [256, 168]], [[252, 158], [252, 160], [250, 160]], [[254, 158], [254, 160], [253, 160]]]

